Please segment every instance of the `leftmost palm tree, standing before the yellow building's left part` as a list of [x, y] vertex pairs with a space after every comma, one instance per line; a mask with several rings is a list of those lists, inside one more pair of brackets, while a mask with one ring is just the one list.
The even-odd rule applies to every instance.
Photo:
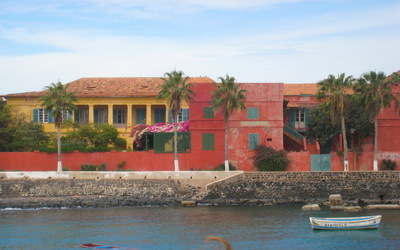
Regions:
[[68, 84], [62, 85], [61, 82], [51, 83], [45, 89], [47, 92], [44, 96], [39, 98], [41, 105], [45, 107], [45, 110], [52, 112], [52, 116], [55, 120], [55, 126], [57, 128], [57, 171], [62, 171], [61, 161], [61, 123], [63, 120], [63, 114], [76, 110], [76, 106], [73, 104], [77, 101], [73, 92], [67, 92]]

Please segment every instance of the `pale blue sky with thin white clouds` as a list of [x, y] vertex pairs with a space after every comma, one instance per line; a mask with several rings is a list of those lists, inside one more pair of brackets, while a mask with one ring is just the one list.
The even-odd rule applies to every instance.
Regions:
[[400, 70], [399, 0], [0, 0], [0, 94], [82, 77]]

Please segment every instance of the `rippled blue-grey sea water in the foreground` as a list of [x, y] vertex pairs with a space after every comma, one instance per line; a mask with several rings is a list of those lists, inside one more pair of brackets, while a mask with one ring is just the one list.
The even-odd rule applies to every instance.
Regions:
[[[315, 231], [310, 216], [381, 214], [379, 229]], [[0, 249], [74, 249], [83, 243], [135, 249], [400, 249], [400, 211], [302, 211], [288, 206], [0, 210]]]

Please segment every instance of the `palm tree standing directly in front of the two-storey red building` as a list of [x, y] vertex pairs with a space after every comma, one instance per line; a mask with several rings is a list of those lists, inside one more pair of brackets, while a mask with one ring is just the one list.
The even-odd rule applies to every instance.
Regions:
[[241, 84], [235, 83], [235, 78], [226, 75], [225, 78], [218, 78], [221, 83], [214, 83], [217, 87], [211, 92], [211, 105], [214, 111], [222, 110], [225, 121], [225, 171], [229, 171], [228, 158], [228, 136], [229, 136], [229, 117], [235, 110], [245, 108], [246, 90], [240, 89]]

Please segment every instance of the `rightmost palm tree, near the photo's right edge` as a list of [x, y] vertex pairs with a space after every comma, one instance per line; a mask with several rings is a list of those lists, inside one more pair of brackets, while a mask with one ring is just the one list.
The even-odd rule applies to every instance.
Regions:
[[364, 73], [354, 86], [374, 124], [374, 171], [378, 171], [378, 114], [382, 109], [390, 107], [394, 100], [391, 85], [392, 81], [385, 73], [371, 71]]

